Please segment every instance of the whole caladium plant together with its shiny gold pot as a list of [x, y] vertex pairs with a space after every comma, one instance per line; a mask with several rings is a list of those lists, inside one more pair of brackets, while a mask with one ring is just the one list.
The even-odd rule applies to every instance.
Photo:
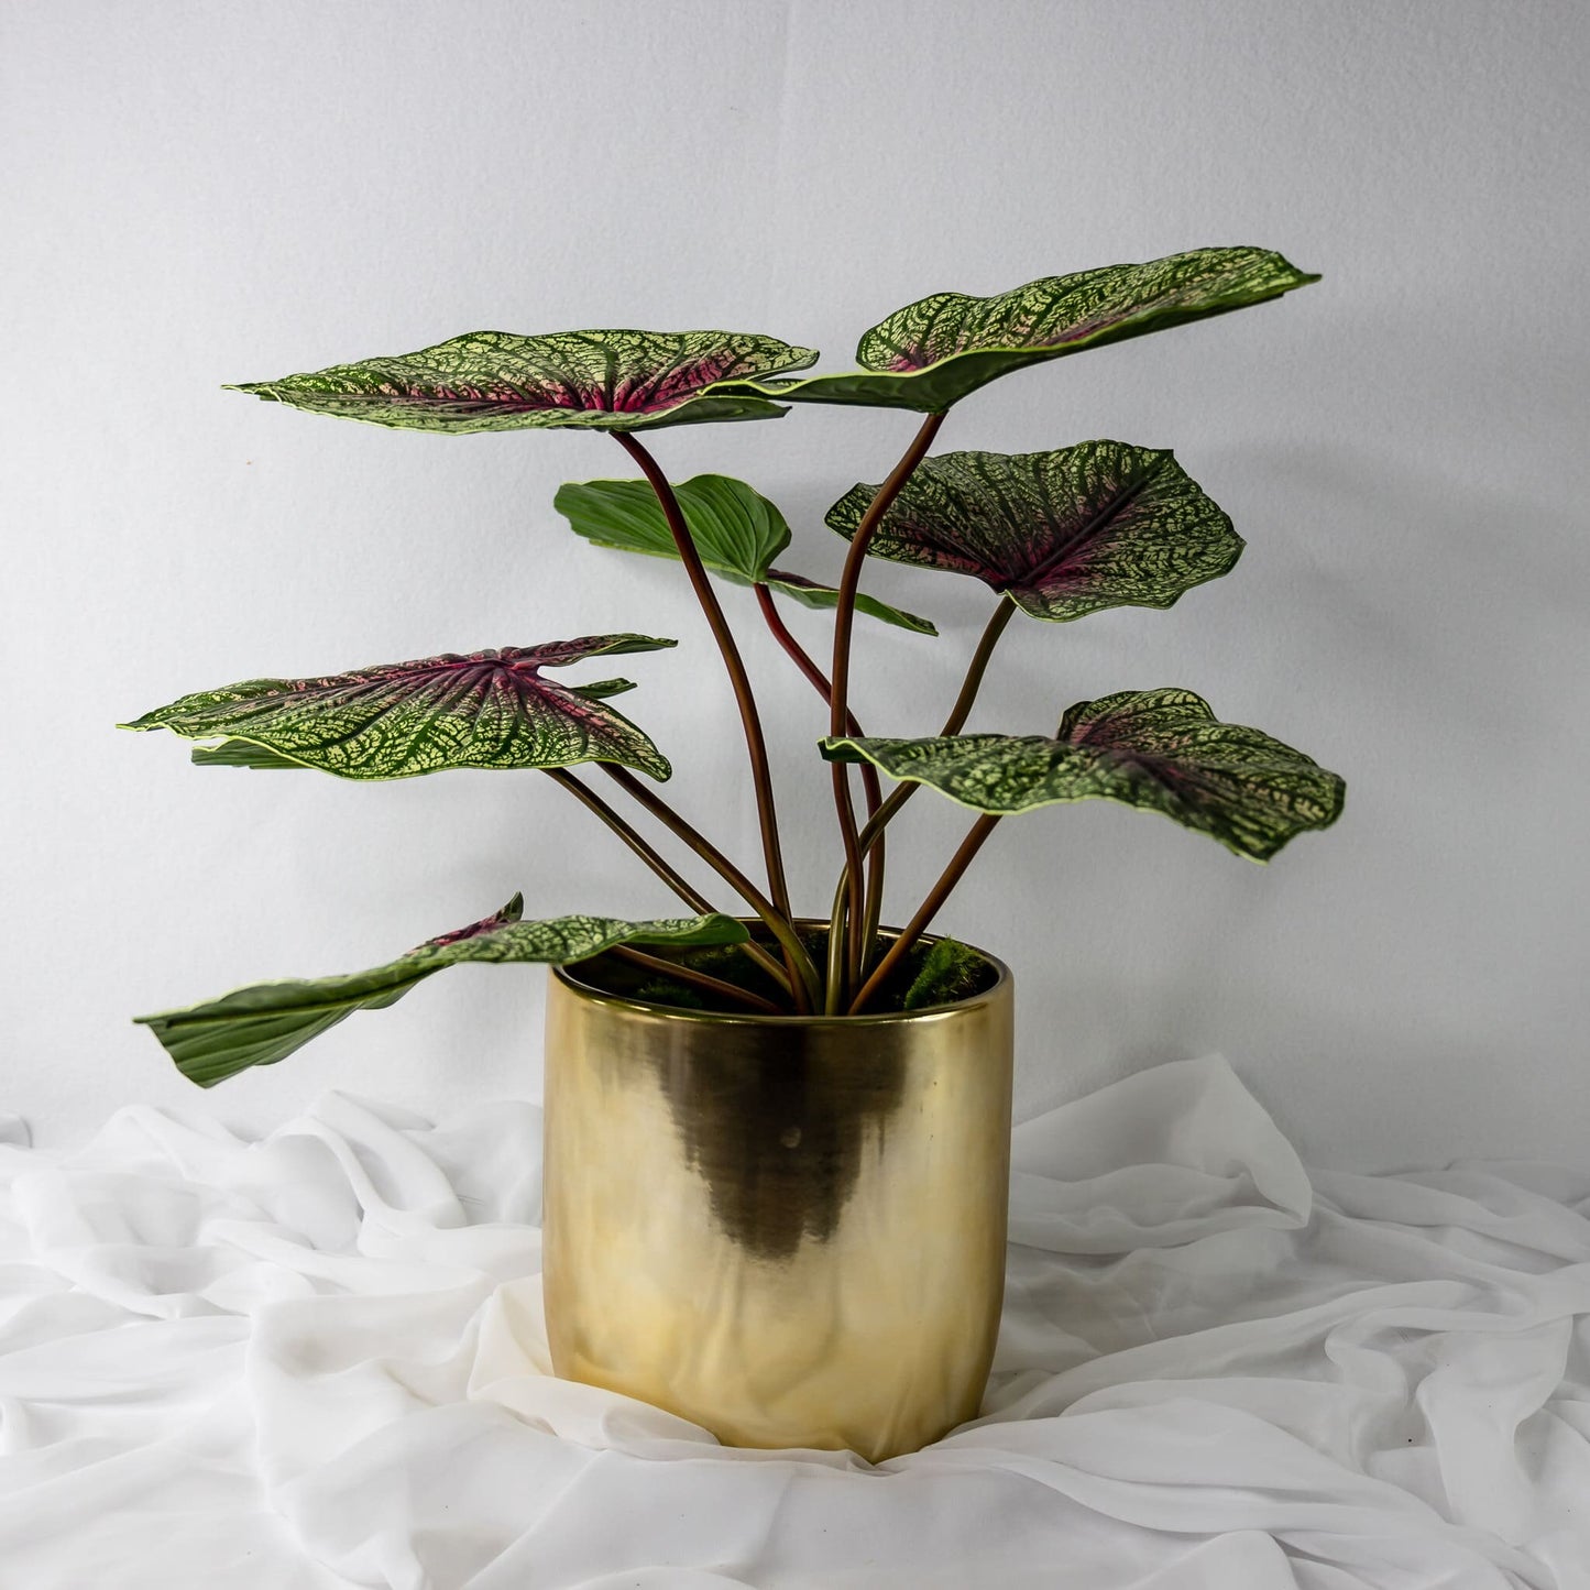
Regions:
[[[684, 564], [738, 701], [763, 854], [754, 878], [657, 793], [666, 757], [611, 704], [628, 681], [549, 673], [669, 639], [580, 636], [186, 695], [126, 727], [200, 741], [192, 758], [205, 765], [347, 779], [539, 770], [690, 914], [525, 921], [515, 895], [369, 971], [258, 984], [138, 1019], [210, 1086], [394, 1003], [444, 967], [549, 964], [545, 1296], [558, 1372], [747, 1445], [878, 1460], [937, 1439], [976, 1412], [994, 1348], [1013, 1053], [1010, 973], [986, 951], [930, 938], [940, 906], [1016, 812], [1124, 801], [1267, 862], [1293, 835], [1334, 822], [1344, 787], [1173, 687], [1080, 701], [1053, 733], [962, 733], [1018, 614], [1065, 623], [1121, 604], [1169, 607], [1227, 572], [1242, 541], [1165, 450], [929, 448], [956, 402], [1008, 370], [1313, 280], [1266, 250], [1202, 248], [992, 297], [937, 293], [868, 331], [859, 369], [832, 375], [795, 375], [816, 353], [763, 335], [477, 332], [242, 386], [442, 434], [611, 432], [641, 479], [564, 485], [555, 506], [591, 542]], [[922, 417], [882, 483], [854, 485], [830, 509], [828, 526], [849, 539], [836, 588], [774, 568], [790, 531], [766, 498], [723, 475], [674, 485], [642, 442], [669, 425], [774, 418], [801, 402]], [[935, 633], [860, 591], [867, 555], [968, 574], [995, 593], [932, 738], [868, 735], [852, 711], [859, 612]], [[803, 917], [790, 900], [757, 698], [714, 577], [750, 588], [827, 704], [816, 749], [830, 763], [844, 857], [827, 917]], [[827, 671], [784, 626], [781, 599], [833, 612]], [[601, 781], [572, 773], [579, 765]], [[895, 781], [887, 797], [879, 774]], [[976, 819], [929, 897], [887, 929], [884, 835], [922, 785]], [[658, 828], [677, 841], [673, 859]], [[720, 909], [730, 898], [735, 913]]]

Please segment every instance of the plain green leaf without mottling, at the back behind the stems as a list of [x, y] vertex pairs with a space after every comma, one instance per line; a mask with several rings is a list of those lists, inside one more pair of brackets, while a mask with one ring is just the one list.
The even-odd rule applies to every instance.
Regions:
[[[701, 563], [714, 574], [735, 585], [771, 585], [806, 607], [838, 603], [840, 593], [832, 585], [773, 568], [773, 560], [790, 544], [790, 528], [776, 504], [744, 480], [695, 475], [676, 485], [674, 496]], [[558, 487], [552, 506], [577, 536], [598, 547], [653, 558], [679, 556], [668, 520], [646, 480], [571, 480]], [[855, 611], [917, 634], [938, 633], [927, 619], [871, 596], [859, 596]]]

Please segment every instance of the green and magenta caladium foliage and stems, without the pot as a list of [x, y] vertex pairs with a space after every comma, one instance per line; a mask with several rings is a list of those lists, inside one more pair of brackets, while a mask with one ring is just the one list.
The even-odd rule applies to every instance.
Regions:
[[[1334, 822], [1344, 795], [1334, 773], [1259, 730], [1221, 723], [1191, 690], [1123, 690], [1080, 701], [1065, 709], [1053, 736], [964, 735], [994, 647], [1018, 614], [1067, 623], [1123, 604], [1169, 607], [1192, 585], [1227, 572], [1243, 544], [1165, 450], [1092, 440], [1040, 453], [929, 455], [949, 409], [999, 375], [1261, 304], [1315, 280], [1267, 250], [1200, 248], [1046, 277], [992, 297], [937, 293], [876, 324], [857, 348], [859, 369], [833, 375], [793, 374], [816, 361], [809, 348], [722, 331], [474, 332], [420, 353], [237, 388], [315, 413], [413, 431], [609, 432], [642, 479], [569, 483], [555, 507], [598, 545], [684, 564], [738, 703], [765, 886], [655, 792], [652, 785], [671, 771], [666, 757], [609, 704], [631, 688], [628, 681], [580, 685], [547, 674], [674, 641], [582, 636], [321, 679], [254, 679], [186, 695], [124, 727], [169, 728], [204, 741], [192, 752], [199, 763], [320, 768], [345, 779], [536, 768], [598, 816], [693, 914], [526, 922], [515, 895], [494, 916], [372, 971], [266, 983], [138, 1019], [184, 1075], [208, 1086], [280, 1061], [351, 1011], [391, 1005], [461, 960], [566, 964], [609, 954], [650, 978], [641, 989], [660, 1002], [757, 1014], [921, 1008], [954, 997], [967, 975], [952, 946], [927, 956], [922, 933], [1006, 816], [1115, 800], [1162, 812], [1256, 862], [1267, 862], [1296, 833]], [[828, 510], [828, 526], [849, 541], [838, 587], [774, 568], [790, 528], [765, 496], [723, 475], [673, 485], [639, 434], [771, 420], [803, 402], [922, 415], [882, 483], [855, 485]], [[868, 553], [968, 574], [995, 593], [965, 684], [932, 738], [867, 735], [851, 709], [857, 612], [935, 633], [927, 620], [860, 591]], [[828, 708], [828, 736], [817, 749], [832, 763], [844, 862], [827, 933], [803, 930], [792, 908], [762, 717], [712, 576], [752, 590], [762, 619]], [[781, 598], [833, 611], [827, 673], [785, 628]], [[569, 771], [582, 763], [614, 785], [607, 795]], [[865, 817], [855, 811], [852, 765]], [[879, 773], [897, 781], [887, 798]], [[921, 785], [978, 817], [929, 897], [890, 937], [879, 932], [884, 832]], [[609, 797], [682, 841], [749, 908], [752, 925], [716, 909]]]

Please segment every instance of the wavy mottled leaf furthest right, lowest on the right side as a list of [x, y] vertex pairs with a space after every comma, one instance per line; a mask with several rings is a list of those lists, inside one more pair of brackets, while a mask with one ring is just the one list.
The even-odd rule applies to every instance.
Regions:
[[1258, 728], [1221, 723], [1191, 690], [1119, 690], [1078, 701], [1054, 739], [825, 739], [830, 762], [871, 762], [973, 811], [1010, 814], [1115, 800], [1175, 819], [1239, 855], [1267, 862], [1288, 840], [1328, 828], [1345, 784]]

